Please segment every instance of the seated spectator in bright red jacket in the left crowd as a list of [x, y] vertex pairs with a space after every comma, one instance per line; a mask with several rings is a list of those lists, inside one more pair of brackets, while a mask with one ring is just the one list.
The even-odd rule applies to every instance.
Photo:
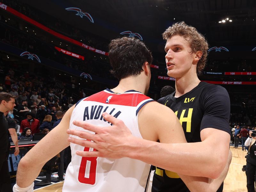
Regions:
[[35, 133], [39, 133], [40, 122], [38, 119], [34, 118], [34, 113], [28, 112], [26, 113], [26, 119], [20, 122], [20, 133], [28, 127], [30, 128], [32, 135]]

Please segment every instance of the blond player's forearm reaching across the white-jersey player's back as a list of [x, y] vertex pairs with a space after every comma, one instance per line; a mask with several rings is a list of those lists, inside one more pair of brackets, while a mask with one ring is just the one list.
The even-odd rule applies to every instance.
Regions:
[[228, 150], [226, 156], [219, 156], [218, 150], [204, 142], [164, 144], [136, 139], [127, 156], [172, 172], [214, 179], [220, 175], [228, 158]]

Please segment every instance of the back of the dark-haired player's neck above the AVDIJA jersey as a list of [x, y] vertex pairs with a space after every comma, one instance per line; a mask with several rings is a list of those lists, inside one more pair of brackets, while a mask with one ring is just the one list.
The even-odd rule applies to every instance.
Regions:
[[111, 89], [113, 92], [116, 93], [123, 93], [129, 90], [139, 91], [141, 93], [145, 93], [146, 88], [146, 81], [142, 80], [139, 76], [130, 76], [119, 81], [119, 84], [114, 88]]

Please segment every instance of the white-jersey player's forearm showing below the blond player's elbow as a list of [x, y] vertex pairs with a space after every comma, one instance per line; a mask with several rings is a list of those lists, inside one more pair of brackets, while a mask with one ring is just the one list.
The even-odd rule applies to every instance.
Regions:
[[222, 173], [220, 174], [220, 177], [218, 177], [217, 179], [214, 179], [214, 180], [206, 178], [206, 177], [187, 176], [187, 175], [182, 175], [180, 173], [178, 173], [178, 174], [191, 192], [193, 192], [193, 191], [195, 191], [195, 192], [201, 192], [201, 191], [202, 192], [204, 192], [204, 191], [216, 192], [228, 174], [228, 168], [231, 163], [231, 159], [232, 159], [232, 153], [229, 150], [227, 164], [226, 164], [225, 168], [223, 169]]

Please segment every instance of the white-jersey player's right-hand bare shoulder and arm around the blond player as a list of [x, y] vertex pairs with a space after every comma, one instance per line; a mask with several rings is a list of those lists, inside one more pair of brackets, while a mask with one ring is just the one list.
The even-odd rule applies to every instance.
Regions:
[[[152, 112], [154, 111], [154, 112]], [[164, 116], [162, 114], [165, 114]], [[168, 116], [168, 118], [165, 118]], [[186, 143], [183, 129], [176, 115], [167, 107], [156, 102], [151, 102], [144, 106], [138, 116], [140, 133], [143, 139], [159, 140], [162, 143]], [[151, 137], [150, 137], [151, 136]], [[154, 154], [153, 154], [154, 155]], [[160, 157], [161, 158], [161, 157]], [[232, 153], [229, 153], [228, 161], [222, 173], [217, 179], [206, 177], [187, 176], [179, 174], [190, 191], [195, 192], [216, 192], [225, 179]], [[186, 160], [184, 164], [191, 164]]]

